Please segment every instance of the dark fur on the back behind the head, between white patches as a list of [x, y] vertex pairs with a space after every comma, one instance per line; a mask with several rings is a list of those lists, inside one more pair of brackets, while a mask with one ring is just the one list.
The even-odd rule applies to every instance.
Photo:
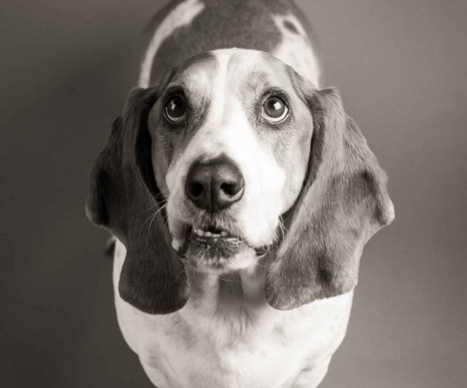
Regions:
[[[181, 1], [171, 1], [158, 13], [146, 29], [148, 45], [154, 31], [171, 9]], [[294, 14], [309, 33], [309, 23], [293, 1], [289, 0], [202, 0], [205, 8], [188, 25], [175, 30], [160, 45], [155, 55], [151, 75], [163, 74], [169, 68], [198, 53], [220, 48], [248, 48], [271, 53], [282, 41], [272, 21], [272, 15]], [[247, 26], [247, 28], [245, 28]], [[176, 48], [174, 50], [174, 48]], [[153, 77], [151, 77], [151, 84]]]

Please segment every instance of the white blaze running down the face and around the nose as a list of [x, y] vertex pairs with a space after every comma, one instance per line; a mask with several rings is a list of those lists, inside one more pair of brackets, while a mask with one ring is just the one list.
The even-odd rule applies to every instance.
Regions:
[[[168, 221], [175, 238], [180, 222], [186, 219], [188, 199], [185, 179], [190, 165], [200, 157], [210, 159], [225, 154], [240, 168], [245, 180], [245, 194], [235, 204], [235, 227], [251, 246], [268, 245], [276, 237], [279, 215], [285, 210], [286, 172], [274, 158], [273, 150], [261, 142], [249, 122], [240, 100], [239, 80], [251, 73], [261, 61], [260, 52], [229, 49], [213, 51], [217, 59], [212, 74], [210, 110], [205, 123], [197, 130], [181, 157], [169, 167], [166, 183], [170, 192]], [[212, 88], [212, 86], [210, 86]]]

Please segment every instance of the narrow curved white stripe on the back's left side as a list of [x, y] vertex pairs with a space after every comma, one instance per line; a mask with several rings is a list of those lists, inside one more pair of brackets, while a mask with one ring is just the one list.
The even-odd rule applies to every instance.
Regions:
[[190, 24], [204, 8], [205, 4], [200, 0], [185, 0], [170, 11], [170, 14], [160, 23], [145, 53], [143, 63], [141, 63], [140, 78], [138, 80], [140, 88], [148, 88], [149, 86], [154, 57], [163, 41], [177, 28]]

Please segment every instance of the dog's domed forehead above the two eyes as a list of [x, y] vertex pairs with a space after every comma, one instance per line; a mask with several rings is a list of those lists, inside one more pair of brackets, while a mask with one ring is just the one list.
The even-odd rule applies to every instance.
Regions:
[[264, 88], [292, 90], [292, 70], [262, 51], [230, 48], [210, 51], [180, 65], [170, 85], [207, 95], [220, 88], [242, 93]]

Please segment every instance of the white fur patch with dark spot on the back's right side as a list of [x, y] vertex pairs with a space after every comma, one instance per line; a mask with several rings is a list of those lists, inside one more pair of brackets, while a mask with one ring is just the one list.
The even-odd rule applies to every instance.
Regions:
[[[318, 61], [302, 24], [292, 14], [273, 15], [272, 20], [282, 35], [282, 41], [272, 55], [292, 66], [297, 73], [319, 88]], [[294, 26], [297, 32], [287, 28], [287, 24]]]

